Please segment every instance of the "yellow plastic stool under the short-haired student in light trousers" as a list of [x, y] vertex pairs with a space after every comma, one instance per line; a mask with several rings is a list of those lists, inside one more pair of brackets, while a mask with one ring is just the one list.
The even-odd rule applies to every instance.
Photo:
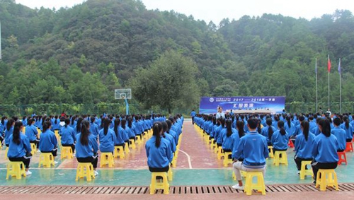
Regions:
[[[253, 183], [253, 177], [257, 177], [256, 183]], [[251, 195], [252, 189], [257, 189], [258, 192], [262, 192], [262, 194], [265, 195], [265, 184], [262, 172], [246, 173], [246, 184], [244, 185], [244, 192], [246, 192], [247, 195]]]

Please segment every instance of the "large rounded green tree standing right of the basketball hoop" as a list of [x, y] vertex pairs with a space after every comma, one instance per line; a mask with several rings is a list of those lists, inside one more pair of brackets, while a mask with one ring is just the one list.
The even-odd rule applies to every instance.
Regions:
[[175, 51], [167, 51], [147, 69], [135, 71], [130, 86], [135, 98], [146, 108], [159, 106], [171, 114], [198, 102], [200, 90], [195, 81], [194, 61]]

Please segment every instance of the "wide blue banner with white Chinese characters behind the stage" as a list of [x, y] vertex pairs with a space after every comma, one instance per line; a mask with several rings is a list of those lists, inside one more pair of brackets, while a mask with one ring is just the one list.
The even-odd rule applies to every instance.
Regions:
[[224, 112], [253, 110], [275, 114], [285, 110], [285, 97], [202, 97], [199, 113], [214, 114], [219, 106]]

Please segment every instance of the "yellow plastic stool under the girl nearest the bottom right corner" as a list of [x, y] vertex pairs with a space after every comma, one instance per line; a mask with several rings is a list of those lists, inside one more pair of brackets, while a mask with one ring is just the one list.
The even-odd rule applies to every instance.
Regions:
[[333, 187], [336, 188], [336, 191], [339, 191], [336, 172], [319, 169], [316, 177], [316, 187], [319, 187], [320, 191], [326, 191], [326, 187]]

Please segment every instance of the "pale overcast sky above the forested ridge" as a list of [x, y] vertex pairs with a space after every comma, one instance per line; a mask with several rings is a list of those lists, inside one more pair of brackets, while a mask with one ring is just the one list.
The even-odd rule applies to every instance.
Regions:
[[[16, 0], [30, 8], [72, 7], [83, 0]], [[174, 10], [195, 19], [212, 20], [218, 24], [222, 18], [238, 20], [241, 16], [261, 16], [263, 13], [282, 14], [294, 18], [319, 18], [323, 14], [331, 14], [336, 9], [354, 11], [352, 0], [142, 0], [148, 9], [158, 8], [160, 11]]]

